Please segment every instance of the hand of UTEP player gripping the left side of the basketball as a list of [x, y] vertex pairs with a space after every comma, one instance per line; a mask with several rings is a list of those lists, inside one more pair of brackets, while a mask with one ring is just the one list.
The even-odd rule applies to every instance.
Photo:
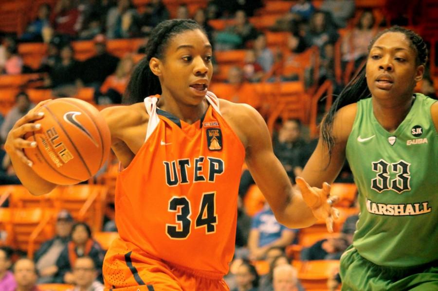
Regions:
[[49, 101], [51, 101], [51, 99], [38, 103], [37, 106], [32, 108], [25, 116], [20, 118], [9, 131], [4, 143], [4, 150], [7, 154], [16, 154], [20, 160], [29, 167], [32, 167], [33, 164], [32, 161], [24, 154], [23, 149], [35, 148], [37, 147], [37, 142], [27, 141], [23, 137], [26, 133], [37, 131], [41, 128], [41, 124], [35, 123], [34, 121], [43, 118], [44, 113], [37, 112], [37, 109]]

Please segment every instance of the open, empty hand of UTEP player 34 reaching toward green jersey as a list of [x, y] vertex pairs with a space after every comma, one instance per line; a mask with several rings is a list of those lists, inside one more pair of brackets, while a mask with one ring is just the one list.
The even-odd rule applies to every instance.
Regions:
[[323, 188], [310, 187], [301, 177], [296, 177], [295, 181], [301, 190], [304, 202], [312, 209], [313, 216], [318, 220], [324, 220], [328, 231], [333, 232], [333, 219], [339, 217], [339, 211], [332, 207], [338, 201], [338, 197], [330, 196], [330, 185], [324, 182]]

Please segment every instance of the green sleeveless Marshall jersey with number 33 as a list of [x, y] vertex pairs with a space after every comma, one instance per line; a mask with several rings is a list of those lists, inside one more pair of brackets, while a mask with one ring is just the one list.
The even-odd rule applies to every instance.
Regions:
[[389, 267], [438, 260], [438, 134], [431, 106], [415, 94], [396, 131], [373, 114], [371, 98], [357, 103], [346, 155], [359, 190], [353, 246], [362, 257]]

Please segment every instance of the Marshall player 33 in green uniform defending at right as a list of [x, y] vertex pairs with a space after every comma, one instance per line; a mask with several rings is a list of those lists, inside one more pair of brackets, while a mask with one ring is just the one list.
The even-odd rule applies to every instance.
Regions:
[[317, 190], [349, 162], [361, 213], [341, 257], [343, 290], [438, 290], [438, 102], [414, 94], [426, 60], [418, 34], [378, 34], [297, 179]]

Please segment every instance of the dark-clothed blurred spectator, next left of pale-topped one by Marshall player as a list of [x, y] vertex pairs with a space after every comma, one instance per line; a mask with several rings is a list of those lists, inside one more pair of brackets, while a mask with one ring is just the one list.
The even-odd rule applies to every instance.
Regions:
[[304, 36], [308, 47], [317, 46], [323, 53], [324, 45], [327, 43], [334, 44], [339, 34], [336, 29], [329, 24], [324, 12], [315, 12], [310, 18], [309, 29]]

